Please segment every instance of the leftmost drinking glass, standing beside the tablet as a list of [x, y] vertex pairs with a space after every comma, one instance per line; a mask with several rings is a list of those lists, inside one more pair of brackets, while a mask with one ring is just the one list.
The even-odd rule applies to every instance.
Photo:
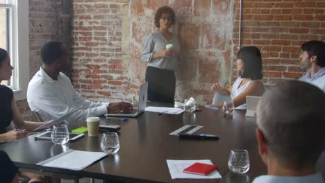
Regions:
[[56, 144], [65, 144], [69, 141], [67, 125], [53, 125], [51, 140]]

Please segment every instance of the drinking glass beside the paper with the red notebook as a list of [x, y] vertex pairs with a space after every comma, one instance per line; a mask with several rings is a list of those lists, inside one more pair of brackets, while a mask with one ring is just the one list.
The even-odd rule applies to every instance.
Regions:
[[228, 157], [228, 168], [233, 173], [247, 173], [247, 171], [249, 171], [249, 165], [249, 154], [247, 150], [231, 150]]

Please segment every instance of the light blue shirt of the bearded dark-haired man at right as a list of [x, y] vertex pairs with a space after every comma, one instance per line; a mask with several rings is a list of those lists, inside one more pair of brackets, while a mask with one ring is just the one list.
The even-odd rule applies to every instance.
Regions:
[[322, 89], [323, 92], [325, 92], [325, 67], [319, 69], [319, 71], [317, 71], [313, 77], [310, 77], [310, 72], [308, 72], [299, 78], [299, 80], [315, 85], [316, 87], [319, 87], [319, 89]]

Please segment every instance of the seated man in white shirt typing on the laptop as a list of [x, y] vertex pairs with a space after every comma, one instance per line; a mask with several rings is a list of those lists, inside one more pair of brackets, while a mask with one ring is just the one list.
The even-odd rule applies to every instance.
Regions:
[[129, 113], [131, 103], [94, 103], [78, 94], [64, 73], [68, 67], [69, 53], [61, 42], [48, 42], [42, 46], [43, 66], [35, 73], [27, 89], [27, 101], [31, 110], [37, 112], [43, 121], [57, 119], [77, 107], [67, 123], [85, 122], [88, 116], [100, 116], [106, 113]]

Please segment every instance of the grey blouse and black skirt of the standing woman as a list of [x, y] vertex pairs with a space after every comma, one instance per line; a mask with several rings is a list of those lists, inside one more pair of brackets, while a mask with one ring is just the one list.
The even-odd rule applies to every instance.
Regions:
[[180, 51], [181, 46], [178, 37], [173, 35], [172, 40], [166, 40], [157, 30], [144, 39], [144, 48], [141, 60], [148, 62], [145, 80], [148, 82], [148, 101], [160, 103], [174, 103], [178, 56], [156, 58], [152, 60], [154, 53], [166, 48], [166, 44], [173, 44], [175, 51]]

